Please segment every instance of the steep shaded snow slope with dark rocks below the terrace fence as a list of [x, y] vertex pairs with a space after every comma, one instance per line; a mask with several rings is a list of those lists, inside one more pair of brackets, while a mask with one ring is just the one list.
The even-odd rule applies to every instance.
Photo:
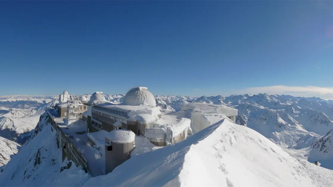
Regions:
[[1, 186], [81, 186], [90, 175], [72, 161], [62, 163], [61, 153], [55, 131], [42, 115], [31, 138], [2, 168]]

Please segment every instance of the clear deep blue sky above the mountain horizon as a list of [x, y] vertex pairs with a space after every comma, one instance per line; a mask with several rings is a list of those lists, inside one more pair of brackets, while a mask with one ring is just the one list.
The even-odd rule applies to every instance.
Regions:
[[333, 1], [1, 1], [0, 95], [333, 98]]

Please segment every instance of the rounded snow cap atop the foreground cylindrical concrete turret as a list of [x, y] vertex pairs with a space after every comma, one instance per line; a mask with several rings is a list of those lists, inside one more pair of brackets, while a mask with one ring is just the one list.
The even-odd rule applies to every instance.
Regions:
[[113, 130], [107, 134], [106, 138], [115, 143], [131, 143], [135, 140], [135, 134], [131, 130]]

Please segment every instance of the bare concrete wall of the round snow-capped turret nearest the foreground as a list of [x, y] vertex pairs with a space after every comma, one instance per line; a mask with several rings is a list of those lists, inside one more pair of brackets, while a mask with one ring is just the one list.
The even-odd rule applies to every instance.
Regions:
[[[110, 141], [105, 138], [105, 144]], [[134, 142], [131, 143], [115, 143], [112, 142], [112, 150], [107, 150], [105, 145], [105, 172], [112, 172], [117, 166], [131, 158]]]

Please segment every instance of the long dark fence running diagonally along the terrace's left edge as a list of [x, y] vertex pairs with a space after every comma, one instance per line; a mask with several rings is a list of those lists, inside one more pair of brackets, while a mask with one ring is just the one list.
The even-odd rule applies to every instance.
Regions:
[[[75, 147], [75, 145], [72, 143], [72, 141], [67, 137], [67, 135], [61, 130], [61, 128], [58, 126], [58, 124], [53, 120], [52, 115], [47, 111], [47, 115], [52, 119], [51, 125], [54, 129], [56, 129], [57, 132], [60, 132], [59, 141], [62, 141], [61, 139], [64, 139], [67, 143], [69, 143], [69, 146], [73, 149], [73, 151], [70, 151], [73, 155], [73, 157], [76, 159], [75, 161], [77, 165], [82, 165], [82, 167], [91, 175], [93, 176], [93, 173], [91, 172], [90, 166], [88, 161], [84, 158], [84, 156], [81, 154], [81, 152]], [[59, 142], [60, 145], [62, 145], [63, 142]], [[60, 146], [62, 148], [62, 146]], [[71, 149], [69, 149], [71, 150]], [[81, 163], [80, 163], [81, 161]]]

